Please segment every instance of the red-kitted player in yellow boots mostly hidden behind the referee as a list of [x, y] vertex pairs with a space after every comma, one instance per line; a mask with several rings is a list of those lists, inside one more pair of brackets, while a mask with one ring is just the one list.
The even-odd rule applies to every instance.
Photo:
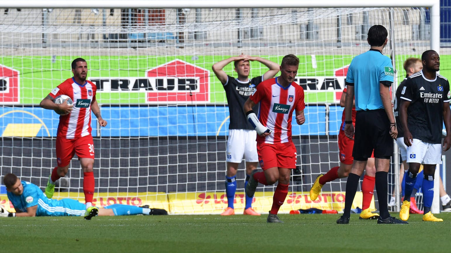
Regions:
[[[341, 94], [340, 106], [345, 107], [346, 87]], [[352, 108], [352, 124], [355, 125], [355, 107]], [[352, 169], [354, 158], [352, 157], [352, 149], [354, 140], [345, 136], [345, 110], [341, 117], [341, 127], [338, 134], [338, 149], [340, 152], [340, 167], [331, 168], [325, 175], [319, 175], [310, 189], [310, 199], [316, 200], [321, 192], [322, 186], [327, 182], [334, 181], [338, 178], [344, 178], [349, 175]], [[368, 163], [365, 167], [365, 176], [362, 182], [362, 212], [360, 212], [359, 219], [373, 220], [379, 217], [379, 214], [373, 213], [376, 209], [370, 208], [371, 200], [373, 199], [373, 190], [375, 185], [376, 167], [374, 166], [374, 156], [368, 158]]]

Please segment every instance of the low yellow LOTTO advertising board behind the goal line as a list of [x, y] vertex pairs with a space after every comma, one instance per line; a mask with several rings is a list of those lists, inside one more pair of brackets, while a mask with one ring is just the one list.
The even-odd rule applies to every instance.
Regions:
[[[273, 192], [256, 192], [252, 207], [256, 212], [267, 213], [272, 206]], [[83, 193], [55, 192], [54, 199], [76, 199], [84, 202]], [[244, 211], [244, 192], [235, 194], [235, 213]], [[97, 207], [104, 207], [112, 204], [126, 204], [133, 206], [149, 205], [151, 208], [163, 208], [171, 214], [220, 214], [227, 208], [227, 196], [225, 192], [197, 192], [197, 193], [97, 193], [94, 194], [93, 204]], [[0, 194], [0, 204], [5, 206], [10, 212], [14, 212], [14, 207], [9, 202], [6, 194]], [[281, 206], [281, 213], [288, 213], [291, 210], [318, 208], [322, 210], [336, 210], [343, 212], [345, 207], [345, 193], [340, 191], [322, 192], [318, 199], [311, 201], [308, 192], [289, 192], [285, 203]], [[362, 208], [362, 193], [357, 192], [352, 208]], [[374, 208], [374, 198], [371, 206]]]

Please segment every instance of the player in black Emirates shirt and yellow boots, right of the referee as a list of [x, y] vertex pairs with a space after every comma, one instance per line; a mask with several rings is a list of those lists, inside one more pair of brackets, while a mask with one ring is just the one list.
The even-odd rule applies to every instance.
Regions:
[[[449, 82], [437, 72], [440, 56], [434, 50], [421, 55], [423, 69], [405, 81], [401, 90], [400, 120], [404, 127], [404, 144], [407, 146], [409, 171], [405, 176], [405, 196], [400, 210], [403, 221], [409, 219], [410, 195], [423, 164], [423, 221], [443, 221], [434, 217], [431, 206], [434, 197], [434, 173], [437, 164], [442, 164], [442, 149], [451, 146], [451, 93]], [[442, 124], [446, 137], [442, 142]]]

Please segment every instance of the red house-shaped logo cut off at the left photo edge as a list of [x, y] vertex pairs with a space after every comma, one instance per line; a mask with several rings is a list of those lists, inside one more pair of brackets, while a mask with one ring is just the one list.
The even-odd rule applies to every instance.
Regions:
[[19, 98], [19, 72], [0, 65], [0, 104], [18, 104]]

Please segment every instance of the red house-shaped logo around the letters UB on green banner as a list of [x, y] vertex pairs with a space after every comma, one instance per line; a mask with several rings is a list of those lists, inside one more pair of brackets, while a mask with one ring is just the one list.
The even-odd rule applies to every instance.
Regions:
[[146, 102], [206, 103], [210, 102], [207, 69], [175, 59], [147, 71], [155, 79], [155, 90], [148, 91]]

